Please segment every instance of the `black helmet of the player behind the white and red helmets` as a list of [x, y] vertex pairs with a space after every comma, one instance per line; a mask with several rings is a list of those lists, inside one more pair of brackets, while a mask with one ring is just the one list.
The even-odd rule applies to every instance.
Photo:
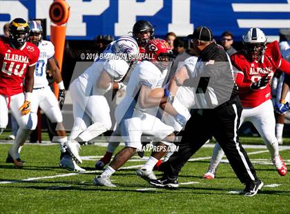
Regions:
[[149, 21], [139, 20], [133, 26], [133, 37], [141, 46], [146, 46], [150, 39], [154, 39], [154, 28]]

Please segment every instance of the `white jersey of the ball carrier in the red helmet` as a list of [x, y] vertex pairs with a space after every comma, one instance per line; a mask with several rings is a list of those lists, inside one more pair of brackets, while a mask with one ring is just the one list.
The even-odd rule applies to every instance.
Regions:
[[138, 106], [137, 99], [139, 98], [139, 90], [142, 85], [148, 86], [151, 89], [162, 88], [167, 71], [168, 70], [160, 71], [160, 69], [150, 61], [142, 61], [135, 66], [126, 88], [126, 96], [117, 106], [115, 111], [117, 122], [121, 121], [125, 113], [133, 111], [134, 109], [141, 110], [142, 112], [149, 113], [153, 116], [156, 115], [159, 106], [146, 109], [142, 109]]

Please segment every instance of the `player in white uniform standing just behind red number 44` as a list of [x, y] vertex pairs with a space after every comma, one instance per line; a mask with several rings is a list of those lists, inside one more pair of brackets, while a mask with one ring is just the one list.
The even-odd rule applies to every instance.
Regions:
[[[40, 50], [39, 59], [35, 67], [35, 84], [33, 86], [32, 93], [32, 106], [31, 112], [37, 113], [38, 107], [43, 110], [43, 113], [55, 123], [55, 128], [57, 127], [57, 141], [61, 144], [61, 151], [64, 153], [65, 147], [64, 143], [67, 142], [66, 130], [62, 124], [61, 107], [64, 104], [65, 99], [65, 88], [64, 82], [61, 78], [61, 72], [55, 61], [55, 46], [50, 41], [42, 39], [42, 28], [41, 24], [37, 21], [28, 22], [30, 28], [29, 41], [34, 43]], [[52, 72], [52, 78], [57, 83], [59, 87], [59, 99], [55, 97], [52, 93], [50, 87], [48, 86], [48, 80], [46, 79], [46, 67], [50, 66]]]

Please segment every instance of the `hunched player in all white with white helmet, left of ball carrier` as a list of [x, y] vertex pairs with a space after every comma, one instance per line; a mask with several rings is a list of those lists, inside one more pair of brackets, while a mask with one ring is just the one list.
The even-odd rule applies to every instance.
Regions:
[[[126, 89], [121, 80], [126, 75], [131, 61], [137, 58], [138, 52], [135, 39], [128, 36], [120, 37], [104, 50], [102, 59], [98, 58], [70, 84], [74, 124], [66, 148], [78, 162], [82, 162], [79, 157], [80, 145], [101, 135], [112, 126], [110, 107], [104, 94], [112, 89]], [[124, 57], [114, 58], [120, 54]], [[72, 171], [84, 171], [79, 167], [76, 168], [75, 162], [70, 164], [72, 157], [64, 155], [61, 166]]]

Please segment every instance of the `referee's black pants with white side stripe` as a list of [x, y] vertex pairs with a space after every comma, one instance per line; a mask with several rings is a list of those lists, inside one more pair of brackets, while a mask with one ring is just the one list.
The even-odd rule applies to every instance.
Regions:
[[162, 164], [160, 170], [171, 179], [177, 178], [182, 166], [213, 136], [224, 150], [240, 182], [249, 183], [258, 179], [238, 139], [241, 113], [242, 105], [238, 97], [214, 109], [194, 110], [184, 128], [179, 150]]

